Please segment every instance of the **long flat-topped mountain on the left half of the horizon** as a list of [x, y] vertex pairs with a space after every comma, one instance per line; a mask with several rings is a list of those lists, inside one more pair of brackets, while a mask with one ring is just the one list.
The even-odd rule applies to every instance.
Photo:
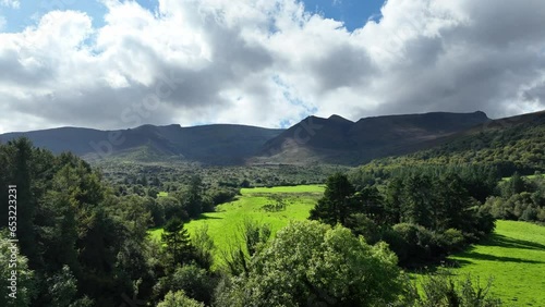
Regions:
[[198, 161], [241, 164], [282, 130], [215, 124], [192, 127], [143, 125], [119, 131], [80, 127], [0, 135], [0, 142], [26, 136], [53, 152], [72, 151], [87, 160]]

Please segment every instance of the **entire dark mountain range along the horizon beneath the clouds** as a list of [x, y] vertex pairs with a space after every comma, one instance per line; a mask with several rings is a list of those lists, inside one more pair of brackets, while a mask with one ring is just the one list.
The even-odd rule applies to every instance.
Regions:
[[413, 152], [491, 120], [483, 112], [388, 115], [352, 122], [339, 115], [308, 116], [288, 130], [213, 124], [193, 127], [143, 125], [119, 131], [60, 127], [0, 135], [27, 136], [53, 152], [87, 160], [196, 161], [209, 164], [356, 165]]

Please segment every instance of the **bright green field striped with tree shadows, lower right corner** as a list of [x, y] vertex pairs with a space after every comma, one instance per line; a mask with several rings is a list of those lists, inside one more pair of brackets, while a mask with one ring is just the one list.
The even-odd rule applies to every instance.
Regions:
[[493, 277], [492, 293], [506, 306], [545, 306], [545, 226], [497, 221], [489, 240], [450, 259], [457, 274]]

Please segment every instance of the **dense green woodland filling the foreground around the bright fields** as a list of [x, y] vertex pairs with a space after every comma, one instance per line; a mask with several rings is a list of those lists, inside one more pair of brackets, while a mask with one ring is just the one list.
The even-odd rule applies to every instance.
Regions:
[[[543, 221], [543, 180], [499, 180], [497, 168], [469, 164], [336, 173], [308, 221], [274, 237], [249, 221], [244, 244], [211, 270], [214, 242], [206, 229], [190, 236], [184, 222], [252, 183], [194, 173], [157, 197], [158, 175], [105, 180], [71, 154], [21, 138], [0, 145], [0, 185], [17, 186], [21, 250], [17, 299], [2, 279], [0, 306], [499, 306], [489, 285], [436, 274], [419, 295], [405, 273], [479, 242], [495, 218]], [[164, 226], [161, 242], [148, 236], [154, 226]]]

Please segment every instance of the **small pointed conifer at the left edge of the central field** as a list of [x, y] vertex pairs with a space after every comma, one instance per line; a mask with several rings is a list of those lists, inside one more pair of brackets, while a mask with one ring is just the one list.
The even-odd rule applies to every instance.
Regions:
[[166, 250], [172, 260], [172, 267], [193, 258], [194, 248], [182, 220], [172, 218], [167, 222], [161, 234], [161, 242], [167, 245]]

